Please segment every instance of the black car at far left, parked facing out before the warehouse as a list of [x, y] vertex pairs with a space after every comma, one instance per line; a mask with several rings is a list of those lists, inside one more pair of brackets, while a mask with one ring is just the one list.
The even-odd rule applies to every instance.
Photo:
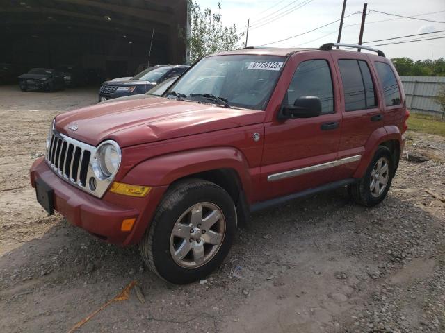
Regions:
[[33, 68], [28, 73], [19, 76], [19, 86], [24, 92], [26, 90], [53, 92], [57, 89], [65, 89], [65, 81], [62, 74], [54, 69]]

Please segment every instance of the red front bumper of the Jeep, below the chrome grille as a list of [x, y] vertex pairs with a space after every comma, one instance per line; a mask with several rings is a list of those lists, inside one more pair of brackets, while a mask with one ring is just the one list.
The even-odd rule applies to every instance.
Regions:
[[[54, 210], [65, 216], [70, 223], [91, 234], [118, 245], [137, 244], [161, 200], [166, 187], [152, 187], [144, 198], [134, 198], [106, 192], [96, 198], [58, 177], [40, 157], [30, 170], [31, 185], [43, 180], [54, 190]], [[121, 231], [124, 219], [136, 218], [129, 232]]]

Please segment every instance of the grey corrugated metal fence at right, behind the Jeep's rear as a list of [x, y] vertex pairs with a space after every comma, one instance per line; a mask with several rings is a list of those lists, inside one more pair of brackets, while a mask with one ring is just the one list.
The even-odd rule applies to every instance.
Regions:
[[419, 113], [441, 115], [440, 105], [434, 97], [439, 87], [445, 85], [443, 76], [401, 76], [405, 89], [406, 106], [409, 110]]

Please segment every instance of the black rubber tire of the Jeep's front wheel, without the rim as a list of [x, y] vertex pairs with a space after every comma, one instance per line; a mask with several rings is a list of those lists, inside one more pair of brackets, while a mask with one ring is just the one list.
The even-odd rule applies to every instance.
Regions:
[[[219, 208], [225, 221], [225, 233], [209, 261], [195, 268], [184, 268], [172, 256], [170, 235], [180, 217], [197, 203], [211, 203]], [[160, 278], [175, 284], [191, 283], [205, 278], [220, 266], [232, 246], [236, 223], [236, 208], [225, 189], [206, 180], [180, 181], [161, 200], [149, 230], [139, 243], [140, 255], [149, 269]]]

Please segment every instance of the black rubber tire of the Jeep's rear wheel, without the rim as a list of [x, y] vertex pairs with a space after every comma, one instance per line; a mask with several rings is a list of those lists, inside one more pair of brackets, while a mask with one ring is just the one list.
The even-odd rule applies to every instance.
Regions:
[[[375, 194], [373, 195], [371, 193], [371, 181], [373, 169], [376, 166], [377, 162], [381, 159], [387, 160], [387, 172], [389, 178], [387, 180], [387, 184], [385, 185], [385, 189], [382, 189], [382, 193], [376, 196]], [[366, 173], [364, 174], [363, 178], [360, 179], [359, 182], [357, 182], [356, 184], [349, 185], [348, 192], [355, 203], [364, 205], [366, 207], [372, 207], [377, 205], [378, 203], [381, 203], [382, 200], [385, 199], [385, 196], [387, 196], [387, 193], [389, 191], [389, 187], [391, 187], [391, 181], [393, 177], [394, 162], [391, 151], [385, 146], [379, 146], [377, 151], [375, 152], [373, 159], [371, 160], [371, 163], [368, 166], [368, 169], [366, 169]]]

